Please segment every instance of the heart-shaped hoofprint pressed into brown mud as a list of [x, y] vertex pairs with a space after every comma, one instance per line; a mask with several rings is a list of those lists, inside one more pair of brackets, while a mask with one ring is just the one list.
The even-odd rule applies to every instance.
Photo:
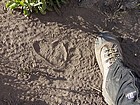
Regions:
[[63, 69], [67, 60], [67, 51], [59, 40], [47, 42], [46, 40], [35, 41], [33, 43], [34, 51], [39, 59], [53, 69]]

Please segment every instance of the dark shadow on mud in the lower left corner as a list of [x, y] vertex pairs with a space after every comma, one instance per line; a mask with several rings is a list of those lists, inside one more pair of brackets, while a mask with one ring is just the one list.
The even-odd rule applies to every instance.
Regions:
[[20, 99], [23, 93], [22, 89], [18, 89], [14, 82], [16, 78], [12, 76], [0, 75], [0, 105], [48, 105], [46, 102], [41, 100], [36, 101], [24, 101]]

